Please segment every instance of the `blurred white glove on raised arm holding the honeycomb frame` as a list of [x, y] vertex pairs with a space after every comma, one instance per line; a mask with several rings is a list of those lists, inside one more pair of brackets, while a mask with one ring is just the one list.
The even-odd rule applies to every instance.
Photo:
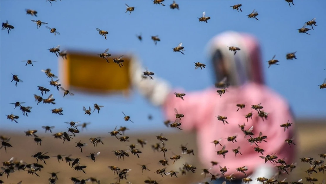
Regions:
[[154, 106], [161, 106], [164, 104], [167, 96], [171, 92], [170, 84], [157, 77], [153, 80], [149, 77], [143, 78], [143, 72], [146, 69], [142, 68], [141, 63], [135, 57], [130, 62], [130, 79], [134, 87], [145, 96]]

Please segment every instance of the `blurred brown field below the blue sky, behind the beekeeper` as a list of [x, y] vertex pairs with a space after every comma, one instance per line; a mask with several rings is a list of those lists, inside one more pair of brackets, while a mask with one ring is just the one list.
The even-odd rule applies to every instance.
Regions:
[[[39, 164], [44, 166], [41, 172], [38, 172], [40, 177], [32, 176], [27, 174], [27, 171], [16, 171], [11, 173], [8, 179], [6, 179], [6, 174], [0, 177], [5, 183], [18, 183], [19, 181], [23, 181], [22, 184], [48, 184], [48, 178], [50, 177], [49, 172], [60, 172], [58, 173], [58, 181], [56, 184], [67, 184], [72, 183], [70, 177], [79, 177], [79, 179], [86, 179], [88, 177], [95, 177], [96, 179], [101, 181], [101, 184], [109, 184], [115, 183], [117, 175], [113, 174], [108, 166], [114, 165], [119, 167], [120, 169], [132, 169], [128, 175], [127, 180], [121, 180], [120, 183], [126, 183], [126, 181], [130, 181], [131, 183], [144, 183], [144, 180], [147, 177], [151, 177], [151, 179], [157, 180], [160, 184], [168, 184], [168, 183], [195, 183], [204, 181], [204, 176], [200, 175], [201, 169], [203, 168], [198, 162], [198, 158], [196, 156], [184, 155], [181, 160], [177, 160], [175, 164], [172, 164], [172, 161], [169, 162], [170, 166], [167, 166], [167, 172], [170, 170], [179, 171], [179, 167], [182, 167], [182, 164], [188, 162], [197, 167], [196, 173], [187, 173], [184, 176], [181, 176], [181, 173], [177, 174], [178, 178], [170, 177], [170, 176], [162, 176], [154, 173], [157, 169], [162, 169], [164, 166], [160, 165], [158, 161], [163, 159], [163, 153], [153, 152], [151, 145], [159, 142], [156, 140], [155, 135], [159, 135], [160, 132], [157, 133], [138, 133], [138, 134], [128, 134], [130, 137], [130, 142], [119, 142], [115, 137], [111, 137], [109, 134], [104, 135], [96, 135], [94, 134], [86, 134], [85, 131], [81, 131], [81, 133], [76, 134], [77, 137], [73, 137], [70, 142], [62, 143], [63, 140], [54, 139], [51, 134], [42, 134], [43, 130], [39, 129], [37, 132], [39, 137], [44, 137], [42, 141], [42, 146], [36, 145], [32, 137], [25, 137], [24, 133], [18, 134], [10, 133], [10, 131], [1, 130], [0, 135], [4, 135], [7, 137], [11, 137], [10, 143], [14, 148], [7, 148], [7, 154], [4, 149], [0, 151], [0, 161], [7, 161], [11, 157], [14, 157], [15, 160], [24, 160], [27, 163], [34, 163], [36, 159], [31, 157], [31, 155], [37, 152], [49, 152], [47, 155], [55, 156], [57, 154], [62, 155], [70, 155], [71, 158], [81, 158], [80, 163], [82, 165], [86, 165], [85, 168], [86, 174], [75, 171], [73, 168], [70, 168], [68, 163], [65, 161], [61, 161], [58, 163], [57, 159], [51, 157], [46, 160], [46, 165], [39, 161]], [[280, 129], [282, 131], [282, 129]], [[301, 120], [296, 124], [296, 132], [297, 132], [297, 149], [298, 155], [296, 162], [298, 163], [297, 168], [290, 173], [290, 175], [286, 175], [284, 177], [287, 178], [287, 181], [297, 181], [299, 179], [303, 179], [303, 183], [308, 183], [305, 180], [305, 177], [308, 175], [304, 172], [309, 167], [309, 163], [301, 163], [300, 157], [313, 157], [315, 159], [319, 158], [318, 154], [326, 152], [326, 124], [325, 120]], [[55, 131], [53, 133], [56, 133]], [[91, 142], [89, 142], [89, 138], [103, 136], [104, 145], [98, 144], [97, 147], [94, 147]], [[179, 148], [181, 144], [185, 145], [188, 143], [187, 147], [190, 149], [195, 149], [195, 155], [197, 153], [196, 148], [196, 135], [194, 133], [164, 133], [164, 137], [167, 137], [169, 141], [166, 142], [166, 147], [169, 150], [166, 153], [166, 157], [171, 156], [171, 151], [176, 154], [181, 152]], [[117, 160], [116, 156], [111, 152], [112, 150], [117, 149], [128, 149], [128, 145], [131, 143], [136, 143], [136, 139], [144, 139], [147, 140], [147, 145], [140, 150], [142, 153], [140, 154], [140, 159], [137, 156], [129, 154], [129, 158], [125, 157], [124, 160]], [[75, 142], [86, 142], [88, 145], [83, 148], [83, 153], [81, 153], [78, 147], [75, 147]], [[140, 147], [140, 145], [137, 145]], [[87, 158], [86, 155], [90, 153], [101, 152], [98, 157], [96, 157], [96, 162], [93, 162], [91, 159]], [[326, 160], [325, 160], [326, 161]], [[139, 164], [148, 164], [148, 168], [150, 171], [144, 171], [142, 175], [141, 166]], [[318, 168], [318, 166], [317, 166]], [[318, 173], [313, 174], [312, 177], [318, 178], [318, 181], [315, 182], [321, 183], [322, 179], [326, 178], [326, 173]]]

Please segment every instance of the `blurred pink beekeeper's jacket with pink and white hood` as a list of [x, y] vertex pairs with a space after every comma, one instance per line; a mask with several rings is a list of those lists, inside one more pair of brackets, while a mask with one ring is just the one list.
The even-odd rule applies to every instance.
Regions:
[[[233, 51], [229, 51], [227, 46], [240, 47], [234, 55]], [[281, 124], [288, 122], [293, 123], [293, 116], [289, 109], [289, 104], [280, 95], [273, 92], [263, 84], [263, 75], [261, 69], [260, 47], [256, 39], [247, 34], [235, 32], [226, 32], [212, 39], [210, 43], [211, 55], [219, 49], [222, 57], [225, 60], [225, 67], [229, 73], [230, 87], [227, 88], [222, 97], [216, 92], [215, 87], [208, 88], [200, 92], [184, 92], [184, 101], [176, 98], [173, 92], [181, 93], [182, 90], [173, 91], [165, 101], [163, 109], [168, 119], [175, 120], [174, 108], [179, 113], [184, 114], [182, 118], [183, 130], [195, 129], [197, 132], [198, 156], [206, 168], [212, 166], [211, 161], [217, 161], [219, 166], [228, 168], [225, 175], [230, 175], [237, 178], [245, 177], [244, 174], [237, 172], [236, 168], [246, 166], [248, 171], [246, 174], [251, 175], [256, 168], [264, 164], [264, 159], [259, 156], [267, 154], [276, 154], [279, 159], [286, 159], [288, 164], [294, 160], [295, 145], [289, 146], [285, 142], [286, 139], [291, 139], [294, 135], [293, 125], [285, 132]], [[261, 103], [265, 112], [269, 113], [267, 120], [262, 120], [258, 116], [258, 112], [251, 109], [251, 105]], [[239, 109], [236, 104], [245, 104], [244, 109]], [[248, 122], [245, 115], [249, 112], [253, 113], [252, 120]], [[218, 121], [216, 116], [228, 117], [229, 124], [223, 125]], [[255, 144], [250, 145], [247, 141], [250, 137], [244, 138], [244, 133], [239, 128], [239, 125], [245, 123], [245, 130], [248, 130], [252, 125], [253, 137], [258, 137], [259, 132], [267, 136], [267, 142], [257, 143], [260, 148], [264, 149], [264, 155], [254, 151]], [[238, 135], [237, 142], [228, 142], [227, 137]], [[225, 158], [222, 155], [217, 155], [215, 151], [221, 150], [222, 146], [212, 143], [214, 140], [223, 138], [220, 143], [226, 145]], [[240, 146], [242, 155], [235, 154], [232, 149]], [[267, 162], [266, 164], [271, 164]], [[273, 166], [273, 165], [272, 165]], [[211, 170], [212, 174], [220, 173], [218, 166], [214, 166]]]

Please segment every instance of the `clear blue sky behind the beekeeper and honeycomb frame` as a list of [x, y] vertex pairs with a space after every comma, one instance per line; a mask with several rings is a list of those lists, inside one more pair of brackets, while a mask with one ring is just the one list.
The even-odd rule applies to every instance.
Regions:
[[[129, 15], [125, 13], [125, 4], [136, 6]], [[172, 1], [164, 1], [165, 7], [144, 1], [0, 1], [1, 22], [9, 21], [15, 26], [10, 34], [0, 31], [0, 117], [1, 129], [26, 130], [53, 125], [54, 132], [67, 128], [63, 122], [92, 122], [89, 131], [109, 132], [116, 125], [126, 125], [134, 130], [165, 128], [159, 108], [153, 108], [138, 92], [128, 99], [121, 96], [85, 96], [76, 94], [62, 98], [62, 93], [48, 86], [41, 69], [51, 68], [58, 75], [58, 59], [47, 49], [61, 45], [61, 49], [74, 48], [102, 52], [106, 48], [110, 53], [133, 51], [141, 57], [144, 66], [170, 81], [174, 87], [183, 87], [187, 91], [202, 90], [213, 84], [209, 62], [205, 55], [206, 43], [216, 34], [227, 30], [242, 31], [258, 37], [262, 46], [264, 75], [267, 85], [289, 100], [298, 118], [326, 118], [326, 89], [320, 85], [326, 77], [325, 61], [325, 10], [326, 1], [294, 1], [295, 6], [285, 1], [177, 1], [180, 10], [170, 9]], [[241, 3], [243, 12], [230, 8]], [[37, 10], [37, 17], [26, 15], [25, 8]], [[259, 20], [248, 19], [246, 14], [256, 9]], [[197, 17], [206, 11], [210, 16], [208, 24], [200, 23]], [[311, 36], [299, 34], [298, 30], [305, 22], [316, 17], [317, 27], [310, 30]], [[324, 17], [324, 18], [323, 18]], [[41, 20], [47, 26], [55, 27], [61, 35], [54, 36], [42, 25], [30, 21]], [[109, 31], [108, 40], [98, 35], [95, 28]], [[143, 42], [135, 34], [142, 33]], [[159, 35], [161, 42], [155, 46], [151, 36]], [[183, 42], [185, 55], [171, 51], [172, 47]], [[288, 52], [297, 51], [297, 60], [285, 60]], [[280, 65], [267, 70], [266, 61], [274, 54]], [[36, 60], [34, 67], [22, 60]], [[200, 61], [208, 67], [195, 70], [194, 62]], [[11, 73], [19, 75], [24, 81], [15, 87]], [[193, 84], [199, 80], [200, 83]], [[37, 85], [49, 87], [56, 99], [56, 105], [34, 102], [33, 94], [39, 94]], [[47, 97], [48, 95], [45, 95]], [[32, 113], [24, 117], [19, 109], [14, 109], [16, 101], [32, 106]], [[82, 107], [104, 105], [100, 114], [84, 115]], [[63, 107], [64, 115], [51, 114], [50, 109]], [[141, 110], [140, 110], [141, 109]], [[131, 116], [130, 122], [124, 122], [124, 111]], [[19, 124], [10, 122], [5, 114], [19, 115]], [[147, 119], [152, 114], [153, 120]]]

